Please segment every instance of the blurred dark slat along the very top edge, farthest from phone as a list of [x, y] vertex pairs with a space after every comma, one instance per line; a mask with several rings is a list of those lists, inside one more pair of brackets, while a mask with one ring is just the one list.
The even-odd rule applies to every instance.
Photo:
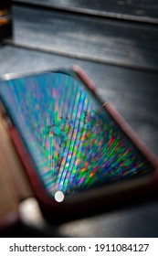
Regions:
[[15, 3], [45, 5], [58, 9], [158, 24], [156, 0], [13, 0]]

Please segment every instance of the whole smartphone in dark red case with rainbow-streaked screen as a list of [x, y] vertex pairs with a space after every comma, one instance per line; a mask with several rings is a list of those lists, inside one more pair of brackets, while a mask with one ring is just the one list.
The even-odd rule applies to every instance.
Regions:
[[[82, 69], [0, 81], [8, 133], [49, 222], [118, 208], [158, 190], [158, 161]], [[9, 159], [8, 159], [9, 161]]]

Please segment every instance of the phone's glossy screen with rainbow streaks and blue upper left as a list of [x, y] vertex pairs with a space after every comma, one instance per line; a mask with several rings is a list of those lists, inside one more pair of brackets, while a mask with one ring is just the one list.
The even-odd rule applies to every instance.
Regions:
[[50, 196], [153, 171], [90, 90], [55, 72], [0, 82], [0, 95]]

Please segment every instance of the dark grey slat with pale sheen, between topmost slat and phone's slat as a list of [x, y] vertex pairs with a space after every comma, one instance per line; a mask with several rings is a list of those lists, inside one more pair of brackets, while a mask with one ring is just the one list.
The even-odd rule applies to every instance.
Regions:
[[138, 69], [158, 70], [158, 28], [90, 16], [13, 8], [15, 42]]

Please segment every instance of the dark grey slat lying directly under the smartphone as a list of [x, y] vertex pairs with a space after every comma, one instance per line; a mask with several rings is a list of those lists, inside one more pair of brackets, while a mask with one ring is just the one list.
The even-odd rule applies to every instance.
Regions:
[[[0, 74], [28, 73], [73, 64], [78, 64], [85, 69], [90, 78], [95, 81], [102, 97], [117, 107], [158, 155], [158, 74], [68, 59], [22, 48], [0, 48]], [[157, 216], [157, 202], [151, 202], [142, 207], [116, 210], [113, 213], [72, 221], [59, 227], [58, 236], [157, 237]], [[52, 234], [50, 230], [49, 228], [47, 236], [57, 235], [54, 227]], [[40, 236], [40, 233], [38, 235]]]

